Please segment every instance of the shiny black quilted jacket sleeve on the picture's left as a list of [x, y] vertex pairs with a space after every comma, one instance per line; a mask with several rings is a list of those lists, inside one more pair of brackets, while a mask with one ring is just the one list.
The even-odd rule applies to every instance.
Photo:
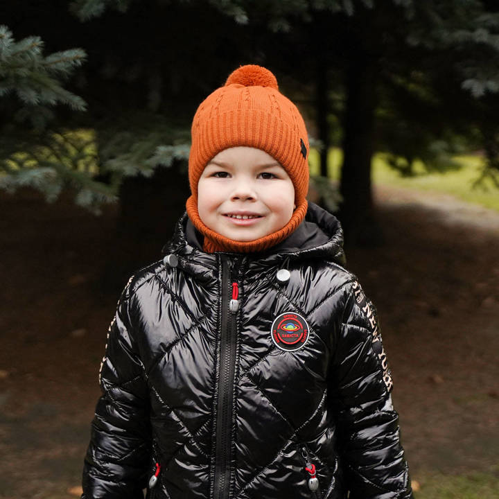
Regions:
[[130, 300], [127, 286], [100, 366], [102, 396], [91, 424], [82, 499], [143, 499], [146, 488], [151, 455], [148, 389], [134, 341]]

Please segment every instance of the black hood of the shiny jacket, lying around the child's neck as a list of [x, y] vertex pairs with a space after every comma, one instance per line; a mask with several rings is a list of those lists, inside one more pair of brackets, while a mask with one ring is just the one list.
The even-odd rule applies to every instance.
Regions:
[[[180, 257], [182, 267], [198, 267], [216, 270], [216, 254], [202, 251], [203, 236], [195, 229], [187, 213], [180, 218], [173, 238], [163, 247], [163, 254]], [[243, 256], [238, 253], [227, 255]], [[263, 252], [244, 255], [262, 265], [276, 265], [282, 261], [297, 259], [323, 259], [344, 265], [343, 231], [338, 219], [328, 211], [308, 202], [308, 210], [303, 222], [285, 240]], [[195, 263], [194, 263], [195, 262]], [[195, 272], [195, 268], [191, 268]], [[195, 272], [196, 274], [198, 272]]]

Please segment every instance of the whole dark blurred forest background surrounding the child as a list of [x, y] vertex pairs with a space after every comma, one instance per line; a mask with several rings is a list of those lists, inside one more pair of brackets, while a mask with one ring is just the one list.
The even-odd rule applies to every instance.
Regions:
[[0, 498], [77, 497], [105, 331], [189, 195], [192, 116], [261, 64], [378, 306], [417, 499], [499, 497], [499, 4], [4, 0]]

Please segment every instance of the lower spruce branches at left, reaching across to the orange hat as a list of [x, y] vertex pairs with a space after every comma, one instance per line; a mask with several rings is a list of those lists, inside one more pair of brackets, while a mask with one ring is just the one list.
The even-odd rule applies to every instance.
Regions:
[[[186, 166], [187, 135], [157, 125], [142, 131], [107, 128], [99, 135], [85, 129], [46, 130], [36, 137], [0, 139], [0, 189], [13, 193], [29, 186], [42, 192], [47, 202], [71, 189], [76, 204], [99, 215], [103, 204], [118, 201], [125, 177], [151, 177], [158, 167]], [[162, 145], [168, 139], [173, 145]], [[103, 142], [100, 147], [98, 140]]]

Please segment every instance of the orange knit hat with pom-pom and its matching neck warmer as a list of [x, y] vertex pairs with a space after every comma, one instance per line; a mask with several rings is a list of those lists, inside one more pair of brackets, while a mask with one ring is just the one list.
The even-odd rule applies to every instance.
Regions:
[[[258, 251], [286, 238], [303, 220], [308, 191], [308, 134], [297, 107], [279, 92], [275, 76], [261, 66], [242, 66], [198, 107], [191, 128], [189, 155], [191, 197], [187, 213], [204, 235], [204, 249], [236, 252]], [[290, 222], [277, 233], [250, 243], [216, 234], [200, 220], [198, 182], [209, 161], [218, 152], [236, 146], [254, 147], [274, 157], [295, 187], [296, 209]], [[208, 238], [213, 244], [206, 244]], [[265, 240], [263, 240], [265, 239]]]

